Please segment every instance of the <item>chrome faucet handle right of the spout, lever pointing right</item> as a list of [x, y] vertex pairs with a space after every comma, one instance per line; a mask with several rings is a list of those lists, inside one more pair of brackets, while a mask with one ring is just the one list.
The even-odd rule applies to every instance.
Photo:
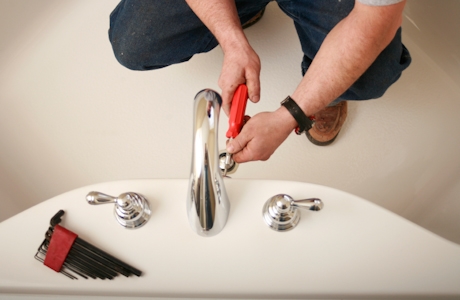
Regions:
[[262, 216], [271, 229], [288, 231], [297, 226], [300, 221], [299, 208], [319, 211], [323, 206], [323, 202], [318, 198], [294, 200], [289, 195], [279, 194], [265, 202]]

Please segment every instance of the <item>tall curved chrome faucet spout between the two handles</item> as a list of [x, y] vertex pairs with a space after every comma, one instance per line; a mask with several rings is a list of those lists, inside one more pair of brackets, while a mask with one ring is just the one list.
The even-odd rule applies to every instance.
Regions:
[[187, 214], [192, 229], [202, 236], [218, 234], [230, 212], [217, 149], [221, 104], [220, 95], [213, 90], [202, 90], [195, 96]]

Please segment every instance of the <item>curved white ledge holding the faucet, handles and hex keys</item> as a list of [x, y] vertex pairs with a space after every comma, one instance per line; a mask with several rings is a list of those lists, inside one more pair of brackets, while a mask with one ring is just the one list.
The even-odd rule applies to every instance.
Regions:
[[[44, 295], [197, 298], [460, 297], [460, 246], [370, 202], [300, 182], [225, 179], [226, 227], [204, 238], [189, 227], [187, 180], [130, 180], [79, 188], [0, 223], [0, 298]], [[90, 191], [136, 192], [149, 222], [121, 227], [113, 206], [90, 206]], [[288, 232], [271, 230], [262, 207], [276, 194], [318, 197]], [[50, 218], [143, 271], [141, 277], [70, 280], [34, 259]], [[48, 296], [47, 296], [48, 297]], [[40, 298], [41, 299], [41, 298]]]

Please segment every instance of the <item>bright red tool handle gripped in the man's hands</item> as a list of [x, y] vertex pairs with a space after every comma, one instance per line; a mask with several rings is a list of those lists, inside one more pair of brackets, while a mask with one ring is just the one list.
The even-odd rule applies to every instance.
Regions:
[[236, 138], [244, 125], [244, 113], [248, 103], [248, 88], [245, 84], [240, 84], [233, 94], [230, 117], [228, 120], [227, 138]]

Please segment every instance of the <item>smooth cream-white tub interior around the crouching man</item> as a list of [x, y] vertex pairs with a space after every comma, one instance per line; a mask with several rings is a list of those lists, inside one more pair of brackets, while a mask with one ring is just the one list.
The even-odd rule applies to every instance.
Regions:
[[[193, 98], [218, 90], [222, 53], [124, 69], [107, 38], [117, 2], [0, 0], [0, 220], [92, 183], [188, 177]], [[339, 188], [460, 243], [459, 3], [408, 2], [411, 67], [382, 99], [350, 103], [333, 145], [293, 134], [234, 177]], [[294, 27], [272, 3], [246, 33], [262, 60], [262, 100], [247, 111], [274, 110], [301, 78]]]

